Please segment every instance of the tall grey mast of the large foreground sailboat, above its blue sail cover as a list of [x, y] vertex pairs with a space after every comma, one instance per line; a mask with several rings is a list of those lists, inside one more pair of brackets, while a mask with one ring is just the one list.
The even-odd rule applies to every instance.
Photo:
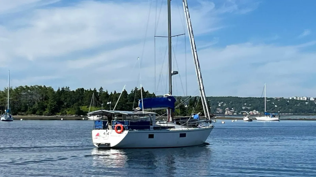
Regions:
[[172, 61], [171, 61], [171, 0], [168, 0], [168, 49], [169, 49], [169, 93], [172, 95]]

